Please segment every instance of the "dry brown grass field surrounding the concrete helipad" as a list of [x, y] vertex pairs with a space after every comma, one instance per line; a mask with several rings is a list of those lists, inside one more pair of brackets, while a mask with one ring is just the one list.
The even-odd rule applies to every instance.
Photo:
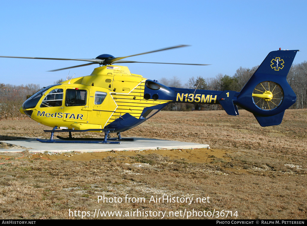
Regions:
[[[162, 111], [122, 133], [209, 150], [0, 153], [0, 218], [306, 219], [307, 109], [286, 110], [281, 125], [264, 128], [251, 113], [239, 113]], [[45, 128], [0, 121], [0, 140], [48, 138]], [[153, 202], [163, 195], [175, 199]]]

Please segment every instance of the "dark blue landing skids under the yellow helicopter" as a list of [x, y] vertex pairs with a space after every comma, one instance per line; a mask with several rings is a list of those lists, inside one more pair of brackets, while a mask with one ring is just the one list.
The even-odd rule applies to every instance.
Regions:
[[[51, 136], [49, 140], [41, 140], [36, 139], [39, 142], [43, 143], [83, 143], [83, 144], [120, 144], [120, 141], [134, 141], [133, 138], [122, 138], [120, 133], [117, 133], [118, 138], [108, 138], [109, 133], [114, 131], [115, 129], [84, 129], [84, 130], [71, 130], [71, 129], [64, 129], [64, 130], [56, 130], [57, 126], [54, 127], [52, 130], [44, 130], [44, 132], [50, 132]], [[104, 138], [77, 138], [72, 137], [72, 132], [87, 132], [87, 131], [104, 131]], [[53, 139], [54, 133], [57, 132], [68, 132], [69, 137], [60, 137], [56, 136], [60, 140]]]

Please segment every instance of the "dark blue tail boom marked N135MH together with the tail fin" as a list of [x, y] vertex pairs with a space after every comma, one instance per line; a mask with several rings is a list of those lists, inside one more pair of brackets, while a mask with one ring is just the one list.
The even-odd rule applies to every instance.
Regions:
[[286, 77], [298, 51], [270, 52], [240, 92], [171, 88], [173, 102], [220, 104], [229, 115], [238, 115], [239, 105], [253, 113], [261, 126], [279, 125], [296, 101]]

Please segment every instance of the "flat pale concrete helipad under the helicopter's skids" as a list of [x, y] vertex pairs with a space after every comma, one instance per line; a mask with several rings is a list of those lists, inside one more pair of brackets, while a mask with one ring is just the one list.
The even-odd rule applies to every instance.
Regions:
[[38, 152], [107, 152], [107, 151], [140, 151], [157, 149], [199, 149], [210, 148], [209, 145], [195, 144], [180, 141], [166, 141], [133, 137], [134, 141], [121, 141], [121, 144], [68, 144], [68, 143], [41, 143], [36, 139], [1, 141], [21, 146], [20, 149], [0, 149], [0, 152], [20, 152], [29, 150]]

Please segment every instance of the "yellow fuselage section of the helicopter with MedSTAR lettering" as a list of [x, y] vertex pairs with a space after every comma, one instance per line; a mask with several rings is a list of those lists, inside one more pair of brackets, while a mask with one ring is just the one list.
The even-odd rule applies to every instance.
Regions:
[[[50, 87], [42, 93], [35, 107], [25, 108], [26, 101], [20, 111], [33, 111], [30, 113], [33, 120], [50, 127], [103, 129], [127, 113], [142, 119], [144, 108], [171, 101], [144, 99], [145, 81], [141, 75], [131, 74], [125, 66], [102, 66], [89, 76]], [[125, 130], [123, 126], [121, 130]]]

